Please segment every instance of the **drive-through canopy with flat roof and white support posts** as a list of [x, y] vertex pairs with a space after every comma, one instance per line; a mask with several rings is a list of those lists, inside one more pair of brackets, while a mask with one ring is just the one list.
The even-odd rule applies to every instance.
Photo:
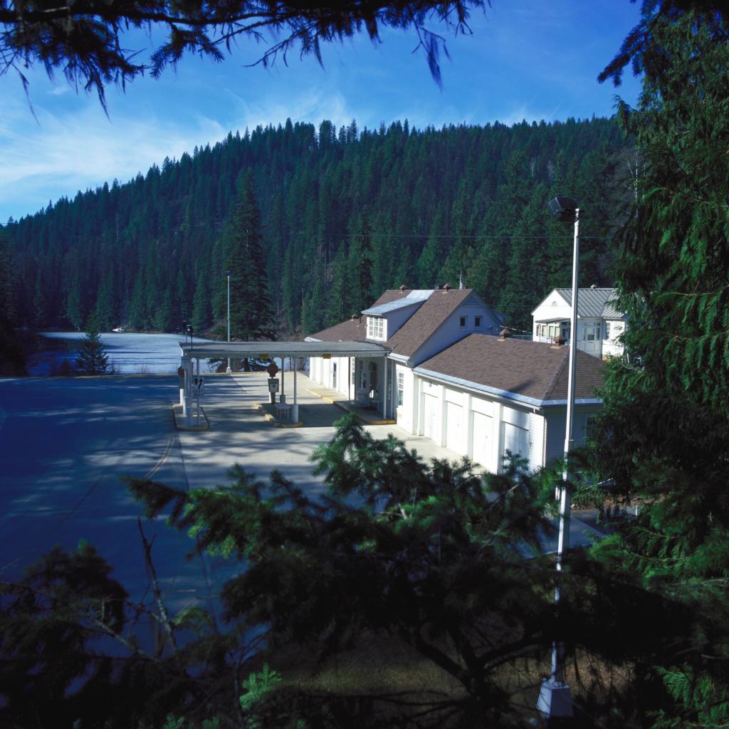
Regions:
[[[275, 359], [284, 357], [381, 357], [390, 348], [370, 342], [180, 342], [184, 386], [180, 399], [185, 420], [192, 418], [192, 360], [253, 357]], [[198, 366], [199, 371], [199, 366]], [[294, 367], [294, 402], [292, 420], [298, 420], [299, 405], [296, 399], [296, 367]]]

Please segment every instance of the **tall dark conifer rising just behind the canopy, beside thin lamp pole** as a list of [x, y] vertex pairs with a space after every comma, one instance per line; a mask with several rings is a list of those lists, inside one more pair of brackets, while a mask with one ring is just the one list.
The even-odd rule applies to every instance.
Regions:
[[261, 220], [253, 171], [238, 181], [238, 200], [222, 234], [230, 274], [230, 336], [238, 340], [273, 336], [273, 313], [266, 288]]

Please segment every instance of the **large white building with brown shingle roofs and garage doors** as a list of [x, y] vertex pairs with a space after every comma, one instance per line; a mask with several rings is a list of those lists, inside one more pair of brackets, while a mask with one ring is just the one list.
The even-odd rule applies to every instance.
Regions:
[[[569, 348], [499, 335], [470, 289], [388, 291], [362, 317], [307, 338], [381, 343], [382, 358], [311, 359], [310, 376], [492, 472], [507, 451], [535, 469], [564, 451]], [[578, 353], [575, 444], [602, 402], [602, 363]]]

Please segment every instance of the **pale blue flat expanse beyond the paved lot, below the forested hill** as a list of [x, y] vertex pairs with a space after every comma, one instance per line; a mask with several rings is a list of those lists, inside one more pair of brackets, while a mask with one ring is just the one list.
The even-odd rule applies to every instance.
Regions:
[[[42, 336], [50, 340], [64, 340], [68, 349], [55, 348], [52, 345], [47, 351], [39, 352], [30, 358], [28, 373], [30, 375], [50, 375], [58, 372], [63, 360], [67, 360], [71, 370], [76, 367], [79, 341], [85, 332], [42, 332]], [[182, 334], [101, 334], [101, 343], [106, 354], [109, 354], [109, 365], [122, 375], [171, 375], [180, 364], [179, 343], [184, 341]], [[210, 340], [195, 337], [193, 343], [206, 343]], [[55, 343], [57, 346], [61, 342]], [[200, 370], [208, 373], [210, 368], [206, 361], [200, 362]]]

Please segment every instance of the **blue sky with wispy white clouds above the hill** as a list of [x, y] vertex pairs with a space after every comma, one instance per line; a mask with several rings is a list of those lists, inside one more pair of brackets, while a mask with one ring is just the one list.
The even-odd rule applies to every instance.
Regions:
[[[493, 0], [474, 12], [471, 36], [448, 38], [443, 89], [429, 74], [416, 36], [384, 31], [373, 47], [366, 36], [324, 47], [324, 68], [289, 56], [273, 69], [247, 68], [265, 45], [241, 42], [223, 63], [184, 58], [177, 71], [137, 79], [125, 92], [107, 90], [109, 117], [94, 94], [77, 93], [62, 74], [49, 80], [31, 69], [31, 113], [12, 71], [0, 77], [0, 221], [32, 214], [63, 195], [126, 182], [165, 157], [214, 144], [229, 130], [293, 121], [359, 128], [410, 121], [506, 124], [613, 113], [615, 95], [634, 103], [639, 82], [630, 74], [615, 89], [596, 77], [636, 24], [628, 0]], [[437, 25], [429, 26], [442, 31]], [[144, 34], [128, 47], [150, 47]]]

